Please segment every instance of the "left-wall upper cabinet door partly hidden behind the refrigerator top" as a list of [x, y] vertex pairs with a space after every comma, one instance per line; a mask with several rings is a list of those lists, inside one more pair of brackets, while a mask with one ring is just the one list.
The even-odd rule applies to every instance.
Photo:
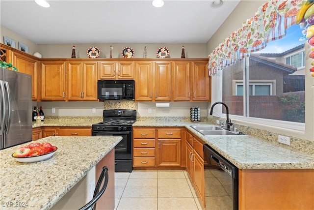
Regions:
[[19, 72], [30, 74], [31, 75], [31, 97], [33, 101], [39, 99], [39, 62], [38, 60], [34, 60], [31, 58], [27, 58], [24, 55], [20, 55], [18, 53], [13, 53], [13, 66], [15, 66]]

